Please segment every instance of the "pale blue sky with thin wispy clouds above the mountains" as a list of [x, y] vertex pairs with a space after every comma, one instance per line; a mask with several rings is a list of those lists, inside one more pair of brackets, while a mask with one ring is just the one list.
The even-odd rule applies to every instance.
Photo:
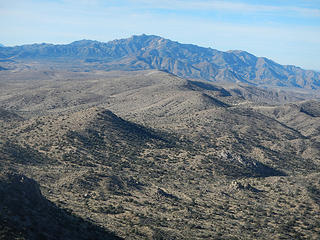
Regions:
[[152, 34], [320, 71], [320, 0], [0, 0], [0, 44]]

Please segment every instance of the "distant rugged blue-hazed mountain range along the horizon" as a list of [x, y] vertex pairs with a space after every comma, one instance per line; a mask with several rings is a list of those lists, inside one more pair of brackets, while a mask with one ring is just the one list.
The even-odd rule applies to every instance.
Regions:
[[320, 73], [280, 65], [264, 57], [235, 50], [222, 52], [181, 44], [153, 35], [132, 36], [107, 43], [81, 40], [66, 45], [32, 44], [2, 47], [0, 60], [77, 61], [100, 70], [159, 69], [180, 77], [263, 87], [320, 89]]

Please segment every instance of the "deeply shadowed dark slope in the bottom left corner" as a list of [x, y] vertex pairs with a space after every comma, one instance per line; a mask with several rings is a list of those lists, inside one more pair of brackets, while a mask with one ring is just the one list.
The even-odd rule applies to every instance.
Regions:
[[0, 239], [121, 239], [62, 210], [24, 175], [1, 172]]

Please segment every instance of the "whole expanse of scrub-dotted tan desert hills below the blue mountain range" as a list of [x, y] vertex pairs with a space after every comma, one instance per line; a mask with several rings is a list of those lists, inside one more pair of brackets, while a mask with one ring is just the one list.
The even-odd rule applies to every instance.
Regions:
[[0, 79], [1, 239], [320, 237], [305, 93], [158, 70]]

